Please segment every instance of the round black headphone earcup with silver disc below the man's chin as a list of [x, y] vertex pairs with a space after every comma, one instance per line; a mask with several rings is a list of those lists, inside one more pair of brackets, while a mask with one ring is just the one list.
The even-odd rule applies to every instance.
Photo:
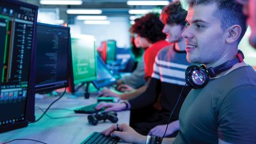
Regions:
[[185, 71], [185, 79], [188, 86], [193, 89], [203, 88], [209, 81], [205, 67], [190, 65]]

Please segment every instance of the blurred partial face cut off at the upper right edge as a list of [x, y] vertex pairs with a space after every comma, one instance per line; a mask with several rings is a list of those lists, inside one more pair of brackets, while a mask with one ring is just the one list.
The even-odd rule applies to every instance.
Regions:
[[252, 29], [250, 44], [256, 48], [256, 0], [236, 0], [243, 4], [243, 13], [248, 16], [247, 24]]

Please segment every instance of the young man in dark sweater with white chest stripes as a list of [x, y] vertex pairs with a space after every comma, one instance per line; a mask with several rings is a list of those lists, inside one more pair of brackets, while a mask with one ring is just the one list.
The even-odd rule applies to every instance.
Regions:
[[[146, 92], [139, 97], [129, 100], [131, 108], [131, 126], [140, 134], [154, 134], [163, 136], [168, 124], [170, 112], [179, 99], [180, 92], [186, 83], [184, 72], [189, 63], [186, 60], [186, 44], [182, 38], [185, 27], [187, 12], [183, 10], [179, 2], [166, 6], [161, 14], [164, 23], [163, 33], [166, 33], [167, 40], [171, 42], [162, 49], [156, 57], [154, 72]], [[175, 109], [172, 120], [167, 131], [167, 136], [176, 136], [179, 130], [179, 110], [186, 98], [190, 88], [185, 86], [181, 93], [180, 102]], [[160, 97], [160, 106], [152, 106]], [[125, 109], [125, 104], [102, 104], [101, 107], [110, 107], [108, 110], [120, 111]]]

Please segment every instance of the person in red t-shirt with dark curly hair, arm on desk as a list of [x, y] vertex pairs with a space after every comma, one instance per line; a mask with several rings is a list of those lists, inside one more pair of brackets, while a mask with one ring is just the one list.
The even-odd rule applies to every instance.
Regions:
[[145, 92], [151, 79], [154, 59], [156, 58], [157, 52], [163, 49], [163, 47], [166, 45], [170, 45], [165, 41], [166, 35], [162, 33], [163, 27], [164, 24], [161, 22], [161, 20], [159, 20], [159, 15], [157, 13], [148, 13], [139, 20], [136, 20], [135, 24], [133, 24], [130, 29], [131, 33], [136, 34], [135, 39], [140, 47], [148, 47], [144, 54], [144, 78], [147, 83], [136, 90], [122, 94], [118, 94], [112, 92], [108, 88], [104, 88], [99, 95], [102, 95], [102, 97], [110, 95], [112, 97], [120, 97], [121, 99], [133, 99], [134, 97], [138, 97], [138, 95]]

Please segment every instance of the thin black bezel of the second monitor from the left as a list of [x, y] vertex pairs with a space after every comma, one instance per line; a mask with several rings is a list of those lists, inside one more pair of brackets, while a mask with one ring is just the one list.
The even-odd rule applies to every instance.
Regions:
[[[45, 23], [41, 23], [41, 22], [37, 22], [37, 26], [48, 26], [48, 27], [51, 27], [51, 28], [63, 28], [63, 29], [67, 29], [68, 30], [68, 34], [70, 33], [70, 28], [69, 27], [65, 27], [65, 26], [59, 26], [59, 25], [53, 25], [53, 24], [45, 24]], [[68, 35], [68, 54], [70, 52], [70, 35]], [[68, 58], [68, 54], [67, 54], [67, 58]], [[56, 89], [59, 89], [59, 88], [66, 88], [68, 86], [68, 61], [67, 61], [67, 75], [66, 75], [66, 80], [67, 80], [67, 83], [65, 85], [57, 85], [57, 86], [51, 86], [51, 87], [48, 87], [48, 88], [36, 88], [36, 84], [35, 84], [35, 93], [48, 93], [48, 92], [51, 92], [52, 90], [56, 90]]]

